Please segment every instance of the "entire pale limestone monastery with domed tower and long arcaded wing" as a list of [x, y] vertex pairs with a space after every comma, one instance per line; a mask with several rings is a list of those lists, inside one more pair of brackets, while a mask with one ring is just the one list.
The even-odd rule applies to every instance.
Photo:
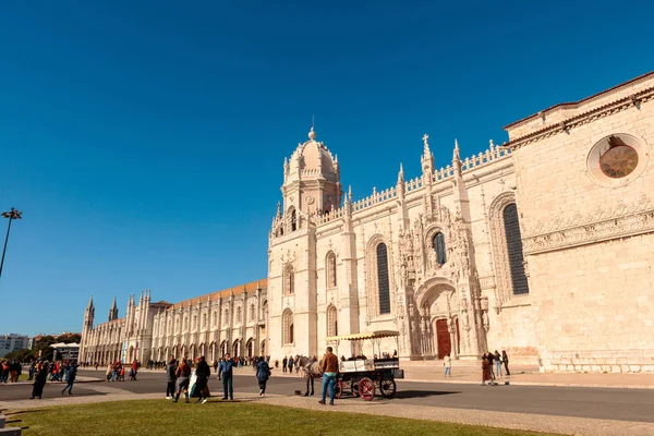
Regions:
[[[427, 360], [505, 349], [542, 371], [654, 371], [654, 73], [505, 128], [509, 141], [354, 201], [316, 141], [284, 161], [268, 278], [182, 303], [86, 310], [82, 359], [322, 355], [397, 330]], [[116, 308], [114, 307], [112, 311]], [[344, 342], [346, 344], [348, 342]], [[339, 354], [372, 348], [347, 349]], [[376, 351], [376, 349], [375, 349]]]

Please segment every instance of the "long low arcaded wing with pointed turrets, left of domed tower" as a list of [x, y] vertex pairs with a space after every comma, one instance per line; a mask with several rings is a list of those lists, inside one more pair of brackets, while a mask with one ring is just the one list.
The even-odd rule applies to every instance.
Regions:
[[171, 304], [152, 303], [150, 291], [138, 304], [131, 295], [124, 318], [116, 300], [107, 323], [94, 326], [93, 298], [84, 315], [80, 359], [88, 363], [117, 360], [167, 361], [170, 358], [214, 361], [268, 353], [266, 280]]

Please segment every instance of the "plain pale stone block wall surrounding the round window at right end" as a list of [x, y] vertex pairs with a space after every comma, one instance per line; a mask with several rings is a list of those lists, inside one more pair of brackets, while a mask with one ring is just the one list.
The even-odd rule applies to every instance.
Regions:
[[[653, 86], [591, 99], [560, 129], [511, 132], [543, 371], [654, 370], [654, 100], [640, 99]], [[639, 166], [611, 179], [592, 153], [616, 134], [638, 143]]]

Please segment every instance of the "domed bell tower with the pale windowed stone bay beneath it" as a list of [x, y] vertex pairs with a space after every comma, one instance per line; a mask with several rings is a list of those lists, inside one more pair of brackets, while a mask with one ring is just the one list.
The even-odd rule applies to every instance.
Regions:
[[270, 350], [318, 354], [316, 220], [341, 205], [338, 158], [312, 128], [283, 161], [282, 204], [268, 245]]

